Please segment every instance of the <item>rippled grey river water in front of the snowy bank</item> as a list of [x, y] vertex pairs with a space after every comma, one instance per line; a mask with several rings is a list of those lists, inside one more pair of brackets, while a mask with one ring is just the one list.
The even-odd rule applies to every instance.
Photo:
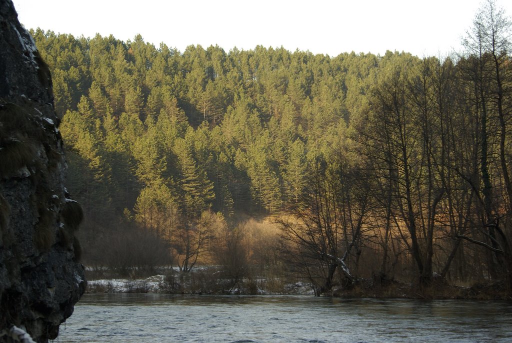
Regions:
[[512, 302], [86, 294], [65, 342], [512, 342]]

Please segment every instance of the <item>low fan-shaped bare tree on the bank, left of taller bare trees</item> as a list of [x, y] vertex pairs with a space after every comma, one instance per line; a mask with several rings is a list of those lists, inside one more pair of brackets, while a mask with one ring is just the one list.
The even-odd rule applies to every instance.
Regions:
[[336, 272], [346, 287], [357, 281], [348, 261], [354, 251], [360, 254], [369, 191], [351, 184], [354, 179], [340, 162], [314, 160], [306, 191], [293, 215], [280, 223], [286, 255], [308, 275], [316, 295], [331, 291]]

